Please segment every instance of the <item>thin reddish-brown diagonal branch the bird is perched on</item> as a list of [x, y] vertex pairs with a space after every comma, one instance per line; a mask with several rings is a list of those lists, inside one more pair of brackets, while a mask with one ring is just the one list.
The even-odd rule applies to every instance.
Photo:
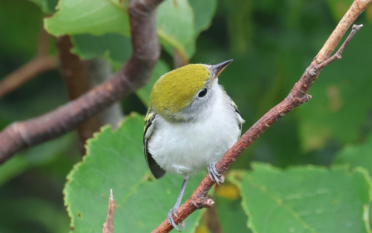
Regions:
[[[363, 2], [363, 6], [361, 6]], [[368, 1], [361, 1], [356, 0], [353, 5], [350, 7], [353, 12], [353, 19], [355, 20], [357, 16], [360, 15], [360, 13], [372, 2], [372, 0]], [[359, 6], [359, 7], [355, 7]], [[345, 17], [347, 19], [350, 19], [350, 9], [345, 14], [343, 19], [341, 19], [341, 22], [346, 22], [347, 20], [344, 19]], [[346, 32], [348, 23], [341, 23], [339, 25], [342, 25], [342, 27], [339, 27], [338, 32], [342, 34]], [[326, 42], [323, 48], [321, 49], [321, 52], [314, 58], [314, 61], [310, 64], [310, 66], [305, 70], [304, 74], [300, 78], [298, 82], [294, 85], [291, 92], [288, 94], [288, 96], [280, 102], [278, 105], [273, 107], [270, 111], [268, 111], [266, 114], [264, 114], [261, 119], [259, 119], [250, 129], [247, 130], [246, 133], [244, 133], [243, 136], [240, 137], [240, 139], [225, 153], [225, 155], [217, 162], [216, 169], [219, 174], [224, 174], [224, 172], [227, 170], [227, 168], [236, 161], [238, 156], [248, 148], [251, 143], [257, 139], [263, 132], [266, 131], [273, 123], [275, 123], [277, 120], [279, 120], [281, 117], [285, 116], [287, 113], [295, 109], [295, 107], [309, 101], [311, 99], [311, 96], [307, 94], [307, 91], [311, 87], [312, 83], [315, 79], [317, 79], [320, 71], [322, 68], [324, 68], [326, 65], [330, 64], [332, 61], [335, 61], [336, 59], [341, 58], [341, 52], [345, 48], [345, 46], [349, 43], [350, 39], [353, 38], [356, 31], [360, 29], [359, 26], [353, 26], [353, 30], [346, 39], [346, 41], [343, 43], [339, 51], [328, 59], [331, 52], [334, 50], [334, 48], [337, 46], [337, 43], [335, 43], [335, 39], [331, 39], [334, 37], [334, 33], [330, 36], [330, 39], [328, 39], [328, 43]], [[335, 30], [336, 31], [336, 30]], [[341, 35], [338, 34], [338, 35]], [[343, 34], [341, 35], [341, 37]], [[316, 63], [317, 62], [317, 63]], [[319, 65], [317, 65], [319, 64]], [[208, 208], [213, 206], [213, 201], [209, 198], [207, 198], [209, 190], [212, 188], [215, 182], [213, 182], [209, 175], [207, 174], [199, 186], [196, 188], [196, 190], [193, 192], [191, 197], [177, 210], [177, 215], [173, 215], [173, 219], [176, 222], [176, 224], [180, 223], [181, 221], [185, 220], [187, 216], [189, 216], [191, 213], [193, 213], [197, 209], [201, 208]], [[153, 233], [166, 233], [170, 232], [173, 227], [169, 223], [169, 221], [166, 219], [161, 223], [156, 229], [153, 230]]]

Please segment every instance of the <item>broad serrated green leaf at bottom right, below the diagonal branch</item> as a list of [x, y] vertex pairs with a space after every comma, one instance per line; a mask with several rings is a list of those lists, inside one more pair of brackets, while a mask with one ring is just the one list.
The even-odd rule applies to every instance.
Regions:
[[371, 180], [364, 169], [314, 166], [280, 170], [255, 163], [230, 175], [253, 232], [371, 232]]

